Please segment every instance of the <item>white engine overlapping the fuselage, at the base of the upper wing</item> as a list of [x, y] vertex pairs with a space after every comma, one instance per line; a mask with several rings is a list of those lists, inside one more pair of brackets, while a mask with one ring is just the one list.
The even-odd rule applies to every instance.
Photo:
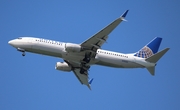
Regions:
[[66, 51], [67, 52], [80, 52], [82, 47], [78, 44], [66, 43]]

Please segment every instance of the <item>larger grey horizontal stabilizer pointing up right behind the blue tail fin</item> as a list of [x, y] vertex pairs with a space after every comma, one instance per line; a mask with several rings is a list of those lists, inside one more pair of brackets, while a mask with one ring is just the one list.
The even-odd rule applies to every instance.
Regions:
[[153, 56], [147, 58], [146, 61], [151, 62], [151, 63], [156, 63], [168, 50], [169, 50], [169, 48], [166, 48], [166, 49], [154, 54]]

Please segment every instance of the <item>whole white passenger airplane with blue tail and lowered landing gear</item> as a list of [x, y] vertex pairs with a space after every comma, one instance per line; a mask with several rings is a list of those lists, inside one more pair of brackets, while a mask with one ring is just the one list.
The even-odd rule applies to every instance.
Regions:
[[100, 30], [98, 33], [81, 44], [65, 43], [44, 38], [19, 37], [10, 40], [8, 44], [18, 51], [32, 52], [62, 58], [64, 62], [57, 62], [56, 70], [73, 71], [81, 84], [91, 90], [93, 78], [89, 78], [89, 69], [92, 65], [102, 65], [114, 68], [146, 68], [151, 75], [155, 75], [157, 61], [170, 49], [165, 48], [158, 52], [162, 38], [155, 37], [151, 42], [135, 53], [119, 53], [101, 49], [107, 42], [108, 35], [122, 22], [129, 10], [119, 18]]

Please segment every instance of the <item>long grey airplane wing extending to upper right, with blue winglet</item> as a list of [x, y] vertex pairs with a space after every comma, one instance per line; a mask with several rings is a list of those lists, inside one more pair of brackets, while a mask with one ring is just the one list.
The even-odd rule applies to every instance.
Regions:
[[92, 51], [96, 51], [101, 48], [101, 46], [106, 42], [108, 35], [122, 22], [126, 21], [125, 17], [129, 10], [125, 11], [121, 17], [110, 23], [104, 29], [90, 37], [88, 40], [84, 41], [81, 46], [91, 49]]

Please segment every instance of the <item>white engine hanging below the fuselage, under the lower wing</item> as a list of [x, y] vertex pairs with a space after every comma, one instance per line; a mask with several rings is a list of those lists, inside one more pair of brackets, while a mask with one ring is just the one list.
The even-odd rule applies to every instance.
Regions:
[[70, 72], [72, 70], [72, 67], [68, 65], [66, 62], [57, 62], [55, 69]]

